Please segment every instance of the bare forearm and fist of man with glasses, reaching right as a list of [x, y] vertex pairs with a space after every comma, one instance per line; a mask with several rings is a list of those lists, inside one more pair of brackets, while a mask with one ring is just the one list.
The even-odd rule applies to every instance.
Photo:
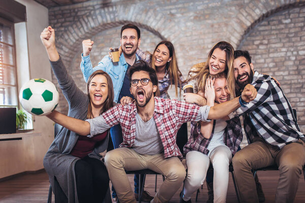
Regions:
[[[257, 95], [257, 91], [253, 85], [248, 84], [241, 93], [241, 98], [246, 103], [253, 101]], [[236, 97], [225, 103], [215, 105], [211, 107], [207, 116], [207, 119], [220, 119], [225, 116], [228, 116], [232, 111], [240, 107], [239, 97]]]

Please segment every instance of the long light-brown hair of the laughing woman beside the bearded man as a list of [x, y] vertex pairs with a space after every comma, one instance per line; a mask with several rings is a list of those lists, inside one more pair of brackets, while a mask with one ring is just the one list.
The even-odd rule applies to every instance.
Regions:
[[205, 87], [205, 81], [207, 76], [209, 75], [209, 69], [208, 69], [208, 62], [212, 56], [212, 53], [214, 52], [215, 49], [221, 49], [226, 52], [226, 68], [225, 68], [225, 74], [227, 75], [227, 87], [230, 91], [231, 94], [231, 99], [235, 97], [235, 79], [234, 79], [234, 70], [233, 70], [233, 62], [234, 62], [234, 48], [233, 46], [225, 41], [221, 41], [214, 45], [214, 47], [208, 52], [207, 55], [207, 60], [205, 63], [200, 63], [202, 64], [202, 68], [195, 71], [190, 71], [189, 75], [194, 75], [195, 76], [191, 77], [189, 81], [191, 80], [196, 80], [197, 81], [197, 86], [198, 86], [198, 91], [201, 90], [204, 92], [204, 87]]

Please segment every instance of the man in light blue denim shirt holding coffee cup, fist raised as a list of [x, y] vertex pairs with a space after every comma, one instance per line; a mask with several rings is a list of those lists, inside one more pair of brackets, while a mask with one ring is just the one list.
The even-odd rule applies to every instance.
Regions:
[[[128, 70], [134, 64], [135, 61], [139, 60], [136, 55], [138, 46], [140, 46], [140, 29], [133, 24], [126, 24], [121, 27], [120, 33], [120, 46], [122, 54], [119, 57], [118, 62], [112, 62], [109, 55], [104, 56], [104, 58], [95, 67], [92, 66], [90, 61], [90, 51], [92, 50], [94, 42], [89, 40], [84, 40], [82, 42], [83, 53], [82, 60], [80, 63], [80, 69], [83, 73], [83, 77], [87, 82], [89, 76], [97, 71], [103, 70], [109, 74], [112, 79], [114, 88], [114, 102], [119, 103], [120, 99], [124, 96], [129, 96], [134, 98], [130, 93], [130, 81]], [[141, 59], [141, 58], [140, 58]], [[121, 132], [120, 125], [115, 125], [110, 129], [111, 139], [113, 142], [113, 147], [118, 148], [119, 144], [123, 142], [123, 136]], [[138, 199], [138, 186], [139, 180], [135, 176], [135, 197]], [[113, 190], [113, 188], [112, 188]], [[112, 198], [114, 201], [117, 200], [115, 192], [112, 193]], [[153, 199], [146, 191], [142, 193], [142, 201], [150, 201]]]

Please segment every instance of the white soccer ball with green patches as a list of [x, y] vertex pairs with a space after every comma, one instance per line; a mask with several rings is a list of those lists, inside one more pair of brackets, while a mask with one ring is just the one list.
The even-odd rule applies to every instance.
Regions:
[[59, 94], [55, 85], [43, 78], [25, 83], [19, 92], [19, 100], [25, 111], [37, 116], [51, 113], [58, 105]]

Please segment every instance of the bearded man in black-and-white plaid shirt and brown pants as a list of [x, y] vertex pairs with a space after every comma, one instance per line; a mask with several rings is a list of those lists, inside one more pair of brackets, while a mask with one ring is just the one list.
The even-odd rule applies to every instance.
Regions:
[[[252, 84], [256, 98], [229, 117], [243, 115], [250, 145], [232, 159], [241, 202], [258, 202], [252, 171], [273, 164], [279, 166], [276, 202], [293, 202], [305, 163], [304, 134], [276, 81], [254, 71], [248, 51], [234, 51], [234, 77], [239, 90]], [[239, 91], [240, 92], [240, 91]]]

